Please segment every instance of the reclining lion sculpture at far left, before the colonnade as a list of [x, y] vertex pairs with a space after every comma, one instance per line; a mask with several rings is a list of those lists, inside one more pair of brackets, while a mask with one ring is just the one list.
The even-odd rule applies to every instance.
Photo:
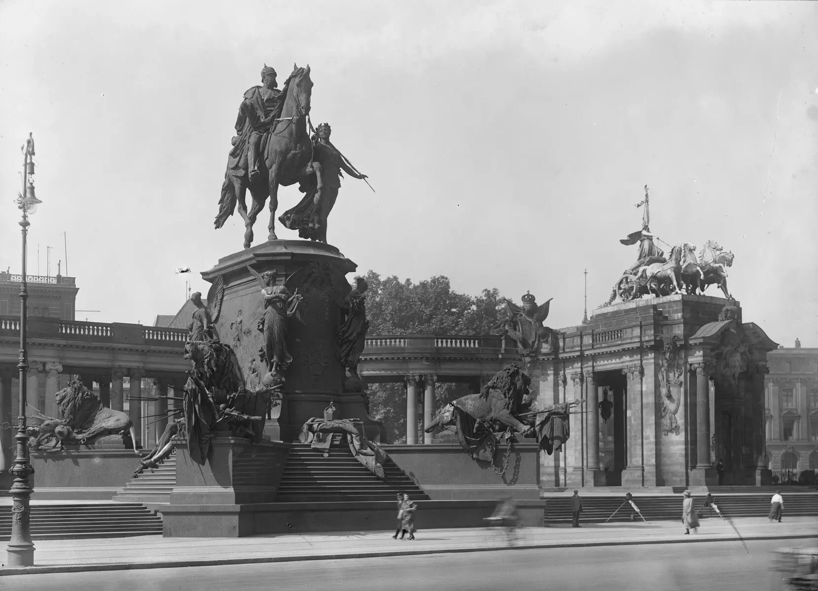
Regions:
[[131, 436], [133, 453], [137, 451], [137, 434], [131, 419], [120, 410], [102, 405], [100, 397], [81, 382], [73, 381], [56, 393], [62, 419], [47, 417], [37, 427], [29, 427], [29, 449], [61, 451], [63, 444], [93, 444], [106, 435]]

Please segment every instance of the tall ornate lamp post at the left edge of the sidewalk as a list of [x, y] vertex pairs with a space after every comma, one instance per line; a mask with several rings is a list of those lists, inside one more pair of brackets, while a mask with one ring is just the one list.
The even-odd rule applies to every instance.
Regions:
[[8, 566], [33, 566], [34, 543], [31, 541], [29, 526], [31, 486], [29, 476], [34, 473], [29, 461], [29, 436], [26, 434], [26, 374], [29, 371], [29, 360], [25, 350], [26, 338], [26, 306], [29, 292], [25, 285], [25, 238], [29, 233], [29, 215], [37, 211], [37, 204], [42, 203], [34, 195], [34, 138], [29, 133], [23, 151], [23, 192], [17, 195], [17, 208], [23, 213], [20, 227], [23, 235], [23, 268], [20, 275], [20, 361], [17, 369], [20, 370], [20, 415], [17, 417], [17, 455], [11, 464], [11, 475], [14, 483], [11, 485], [11, 540], [7, 552]]

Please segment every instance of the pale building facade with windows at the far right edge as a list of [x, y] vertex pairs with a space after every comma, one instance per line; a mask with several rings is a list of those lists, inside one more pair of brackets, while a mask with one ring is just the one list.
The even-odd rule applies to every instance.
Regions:
[[774, 474], [818, 470], [818, 348], [780, 347], [767, 355], [767, 462]]

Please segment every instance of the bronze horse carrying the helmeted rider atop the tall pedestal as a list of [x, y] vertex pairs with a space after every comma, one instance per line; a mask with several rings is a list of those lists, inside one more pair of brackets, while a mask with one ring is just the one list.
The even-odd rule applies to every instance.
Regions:
[[[245, 248], [253, 242], [253, 225], [258, 213], [270, 198], [270, 222], [267, 224], [267, 240], [278, 240], [275, 222], [278, 208], [278, 187], [290, 186], [303, 181], [312, 173], [308, 165], [312, 160], [312, 143], [307, 131], [307, 116], [312, 97], [312, 80], [306, 68], [293, 66], [293, 73], [287, 78], [281, 92], [285, 94], [281, 118], [272, 124], [270, 132], [263, 139], [263, 162], [259, 162], [258, 179], [249, 182], [246, 174], [231, 174], [228, 166], [222, 184], [222, 196], [214, 225], [220, 228], [233, 214], [236, 204], [239, 215], [245, 221]], [[249, 211], [245, 203], [247, 189], [253, 197]]]

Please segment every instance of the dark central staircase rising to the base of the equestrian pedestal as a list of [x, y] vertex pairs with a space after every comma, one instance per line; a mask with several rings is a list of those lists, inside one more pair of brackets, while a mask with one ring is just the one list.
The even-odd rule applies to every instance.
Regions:
[[386, 481], [362, 466], [342, 436], [335, 435], [326, 452], [312, 450], [308, 443], [294, 443], [287, 455], [276, 503], [394, 501], [398, 492], [413, 500], [429, 496], [398, 466], [384, 463]]

